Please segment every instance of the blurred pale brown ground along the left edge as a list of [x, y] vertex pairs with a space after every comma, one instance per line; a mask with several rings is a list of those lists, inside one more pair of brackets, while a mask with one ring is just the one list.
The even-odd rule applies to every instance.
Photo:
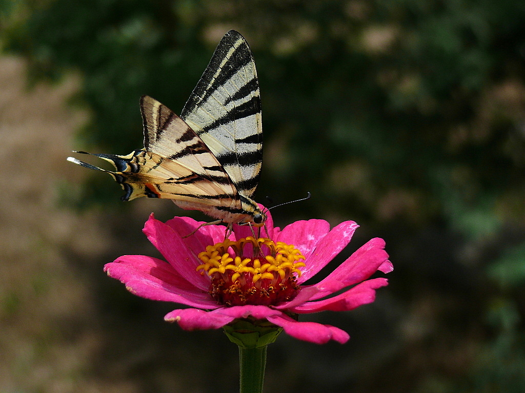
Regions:
[[79, 378], [101, 334], [92, 290], [66, 249], [92, 258], [108, 236], [100, 215], [58, 206], [59, 185], [86, 175], [65, 159], [87, 117], [65, 104], [78, 81], [29, 89], [25, 72], [22, 59], [0, 57], [0, 391], [133, 391]]

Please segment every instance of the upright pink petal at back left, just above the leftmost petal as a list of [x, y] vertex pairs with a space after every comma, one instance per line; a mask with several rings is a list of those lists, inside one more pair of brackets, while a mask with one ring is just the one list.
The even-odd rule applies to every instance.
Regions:
[[[180, 220], [184, 222], [185, 220]], [[153, 214], [150, 216], [143, 229], [144, 233], [166, 258], [172, 267], [180, 273], [184, 279], [193, 283], [197, 288], [207, 291], [209, 288], [209, 277], [207, 275], [199, 274], [196, 268], [201, 261], [197, 258], [195, 252], [186, 245], [186, 239], [183, 239], [176, 230], [171, 226], [164, 224], [164, 222], [156, 220]], [[190, 236], [192, 237], [192, 236]], [[195, 246], [196, 242], [204, 241], [201, 237], [196, 237], [193, 240], [187, 240], [188, 244]], [[213, 243], [208, 243], [213, 244]], [[201, 251], [205, 250], [204, 248]], [[200, 251], [199, 251], [200, 252]]]

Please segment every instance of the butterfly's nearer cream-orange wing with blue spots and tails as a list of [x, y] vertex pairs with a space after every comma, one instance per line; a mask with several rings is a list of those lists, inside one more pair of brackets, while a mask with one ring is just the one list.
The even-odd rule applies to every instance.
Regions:
[[118, 172], [81, 165], [109, 172], [126, 190], [124, 200], [149, 196], [210, 205], [238, 200], [228, 174], [181, 118], [148, 96], [141, 98], [141, 109], [144, 149], [127, 156], [94, 154], [111, 162]]

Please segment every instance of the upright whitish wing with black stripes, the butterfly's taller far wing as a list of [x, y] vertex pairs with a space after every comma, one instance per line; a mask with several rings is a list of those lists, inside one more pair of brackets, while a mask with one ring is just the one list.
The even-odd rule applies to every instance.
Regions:
[[251, 50], [236, 31], [220, 41], [181, 118], [217, 157], [239, 193], [251, 196], [262, 160], [259, 83]]

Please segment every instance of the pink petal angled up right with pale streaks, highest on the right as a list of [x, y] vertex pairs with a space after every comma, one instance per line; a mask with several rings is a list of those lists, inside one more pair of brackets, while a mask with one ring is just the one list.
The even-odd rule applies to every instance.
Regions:
[[[341, 250], [348, 245], [355, 230], [359, 227], [354, 221], [344, 221], [325, 236], [320, 236], [316, 248], [308, 253], [306, 267], [302, 268], [299, 284], [307, 281], [324, 268]], [[286, 229], [286, 228], [285, 228]], [[283, 230], [284, 231], [284, 230]], [[281, 233], [282, 237], [282, 233]]]

